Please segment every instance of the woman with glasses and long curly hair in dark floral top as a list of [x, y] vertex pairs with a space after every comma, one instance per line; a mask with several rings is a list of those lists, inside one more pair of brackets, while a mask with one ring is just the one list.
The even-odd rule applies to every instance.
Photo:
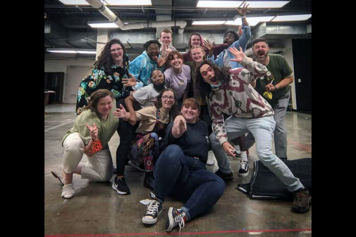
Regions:
[[[118, 101], [128, 97], [136, 85], [136, 78], [128, 73], [128, 56], [119, 39], [108, 41], [100, 56], [94, 62], [92, 74], [80, 82], [77, 97], [76, 113], [80, 114], [87, 105], [86, 99], [98, 89], [107, 89]], [[138, 81], [140, 82], [140, 81]]]

